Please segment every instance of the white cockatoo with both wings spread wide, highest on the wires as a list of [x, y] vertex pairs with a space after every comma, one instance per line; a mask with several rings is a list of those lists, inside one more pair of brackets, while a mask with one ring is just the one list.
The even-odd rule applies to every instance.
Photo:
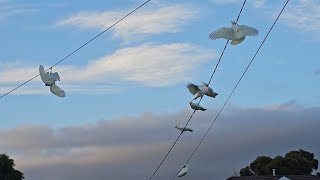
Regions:
[[259, 34], [259, 31], [255, 28], [241, 25], [239, 26], [236, 22], [231, 21], [232, 26], [227, 28], [223, 27], [216, 31], [213, 31], [209, 37], [210, 39], [228, 39], [231, 40], [232, 45], [237, 45], [241, 43], [246, 36], [256, 36]]

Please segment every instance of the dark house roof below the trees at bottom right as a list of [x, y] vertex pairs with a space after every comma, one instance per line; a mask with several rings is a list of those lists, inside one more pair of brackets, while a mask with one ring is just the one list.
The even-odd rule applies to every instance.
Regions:
[[226, 180], [280, 180], [282, 177], [290, 180], [320, 180], [320, 177], [314, 175], [233, 176]]

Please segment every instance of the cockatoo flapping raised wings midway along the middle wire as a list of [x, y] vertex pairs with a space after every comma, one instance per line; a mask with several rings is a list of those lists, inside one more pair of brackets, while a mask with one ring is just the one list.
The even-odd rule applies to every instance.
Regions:
[[213, 98], [215, 98], [218, 95], [218, 93], [214, 92], [212, 88], [204, 82], [202, 83], [202, 85], [199, 86], [189, 83], [187, 84], [187, 88], [189, 89], [190, 93], [193, 94], [192, 101], [197, 99], [198, 97], [202, 97], [203, 95], [207, 95]]

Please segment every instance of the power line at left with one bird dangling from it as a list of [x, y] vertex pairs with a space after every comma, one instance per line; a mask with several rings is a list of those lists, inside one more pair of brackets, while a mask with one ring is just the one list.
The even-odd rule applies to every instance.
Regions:
[[[67, 56], [65, 56], [64, 58], [62, 58], [60, 61], [58, 61], [57, 63], [55, 63], [54, 65], [52, 65], [50, 68], [48, 68], [45, 71], [48, 71], [49, 69], [57, 66], [58, 64], [60, 64], [62, 61], [65, 61], [68, 57], [70, 57], [71, 55], [73, 55], [74, 53], [76, 53], [77, 51], [79, 51], [80, 49], [82, 49], [83, 47], [85, 47], [86, 45], [88, 45], [89, 43], [91, 43], [93, 40], [95, 40], [96, 38], [98, 38], [99, 36], [101, 36], [102, 34], [104, 34], [105, 32], [107, 32], [109, 29], [111, 29], [112, 27], [114, 27], [115, 25], [117, 25], [119, 22], [123, 21], [125, 18], [127, 18], [128, 16], [130, 16], [132, 13], [134, 13], [135, 11], [137, 11], [138, 9], [140, 9], [141, 7], [143, 7], [144, 5], [146, 5], [148, 2], [150, 2], [151, 0], [147, 0], [144, 3], [142, 3], [140, 6], [138, 6], [137, 8], [135, 8], [134, 10], [130, 11], [128, 14], [126, 14], [125, 16], [123, 16], [121, 19], [119, 19], [118, 21], [116, 21], [115, 23], [113, 23], [111, 26], [109, 26], [108, 28], [106, 28], [105, 30], [103, 30], [102, 32], [100, 32], [99, 34], [97, 34], [96, 36], [94, 36], [93, 38], [91, 38], [89, 41], [87, 41], [86, 43], [84, 43], [83, 45], [81, 45], [80, 47], [78, 47], [77, 49], [75, 49], [74, 51], [72, 51], [70, 54], [68, 54]], [[8, 94], [12, 93], [13, 91], [19, 89], [20, 87], [24, 86], [25, 84], [27, 84], [28, 82], [34, 80], [35, 78], [37, 78], [40, 74], [34, 76], [33, 78], [27, 80], [26, 82], [20, 84], [19, 86], [13, 88], [12, 90], [8, 91], [7, 93], [3, 94], [0, 96], [0, 99], [7, 96]]]

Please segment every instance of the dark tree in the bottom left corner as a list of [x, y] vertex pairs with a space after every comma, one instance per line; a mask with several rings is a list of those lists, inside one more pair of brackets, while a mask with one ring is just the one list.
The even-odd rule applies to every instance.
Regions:
[[2, 180], [22, 180], [23, 173], [14, 169], [14, 160], [7, 154], [0, 154], [0, 179]]

